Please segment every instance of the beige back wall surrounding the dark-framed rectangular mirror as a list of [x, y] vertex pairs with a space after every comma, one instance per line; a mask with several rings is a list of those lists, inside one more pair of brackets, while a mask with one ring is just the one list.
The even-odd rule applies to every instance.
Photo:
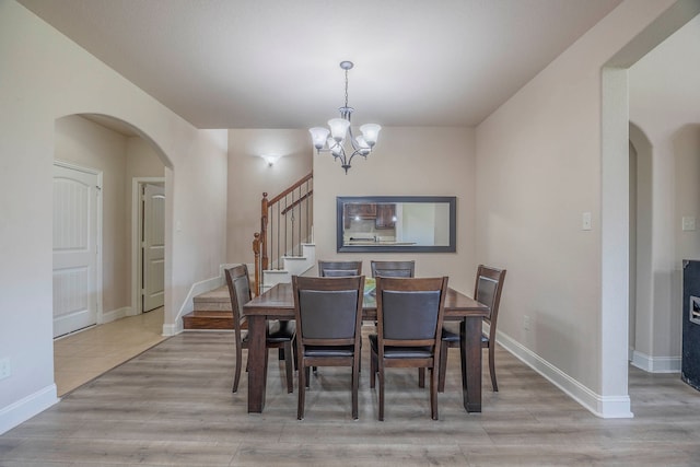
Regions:
[[[419, 276], [450, 276], [450, 285], [471, 294], [476, 273], [474, 250], [475, 153], [471, 128], [383, 128], [365, 160], [345, 171], [332, 156], [314, 155], [314, 230], [317, 259], [416, 260]], [[336, 253], [337, 196], [456, 196], [456, 253]]]

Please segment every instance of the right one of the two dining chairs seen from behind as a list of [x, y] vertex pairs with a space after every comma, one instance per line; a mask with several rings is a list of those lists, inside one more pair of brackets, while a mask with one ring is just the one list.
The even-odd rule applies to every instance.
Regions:
[[438, 420], [440, 337], [447, 278], [376, 278], [377, 334], [370, 335], [370, 387], [380, 378], [384, 420], [384, 369], [430, 369], [430, 412]]

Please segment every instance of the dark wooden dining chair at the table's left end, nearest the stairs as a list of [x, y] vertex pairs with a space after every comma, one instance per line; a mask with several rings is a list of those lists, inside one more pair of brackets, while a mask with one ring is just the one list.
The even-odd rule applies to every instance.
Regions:
[[[252, 300], [250, 280], [248, 267], [246, 265], [235, 266], [224, 270], [229, 295], [231, 296], [231, 310], [233, 311], [233, 331], [236, 345], [236, 369], [233, 378], [233, 392], [238, 390], [241, 381], [241, 367], [243, 363], [243, 349], [248, 348], [248, 332], [242, 329], [246, 320], [243, 315], [243, 305]], [[295, 324], [291, 320], [269, 320], [267, 324], [266, 341], [267, 349], [281, 349], [280, 357], [284, 358], [287, 370], [287, 392], [294, 390], [294, 369], [292, 355], [292, 341], [294, 340]], [[247, 370], [247, 366], [246, 366]]]

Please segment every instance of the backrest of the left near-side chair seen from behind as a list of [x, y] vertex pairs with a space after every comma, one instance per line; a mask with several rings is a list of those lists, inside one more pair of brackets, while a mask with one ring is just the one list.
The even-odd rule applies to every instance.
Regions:
[[296, 339], [303, 346], [352, 346], [360, 351], [364, 276], [292, 277]]

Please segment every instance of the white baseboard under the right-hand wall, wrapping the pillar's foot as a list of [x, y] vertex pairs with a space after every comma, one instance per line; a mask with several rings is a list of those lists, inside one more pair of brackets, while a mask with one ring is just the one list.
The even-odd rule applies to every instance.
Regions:
[[535, 370], [551, 384], [563, 390], [572, 399], [588, 409], [596, 417], [605, 419], [632, 418], [629, 395], [600, 396], [569, 376], [510, 336], [497, 331], [497, 341], [515, 358]]

